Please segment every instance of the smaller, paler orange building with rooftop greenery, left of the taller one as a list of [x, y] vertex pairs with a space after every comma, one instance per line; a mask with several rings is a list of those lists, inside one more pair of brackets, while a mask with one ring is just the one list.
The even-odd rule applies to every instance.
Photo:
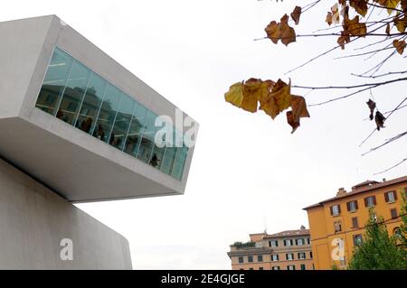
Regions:
[[232, 270], [312, 270], [309, 230], [251, 234], [248, 243], [237, 242], [228, 252]]

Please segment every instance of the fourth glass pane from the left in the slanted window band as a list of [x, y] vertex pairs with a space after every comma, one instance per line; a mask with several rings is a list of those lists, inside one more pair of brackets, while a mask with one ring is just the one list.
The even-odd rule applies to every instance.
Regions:
[[111, 84], [106, 88], [105, 97], [99, 111], [98, 122], [93, 131], [93, 135], [101, 141], [108, 142], [109, 140], [110, 130], [115, 121], [121, 95], [121, 91]]

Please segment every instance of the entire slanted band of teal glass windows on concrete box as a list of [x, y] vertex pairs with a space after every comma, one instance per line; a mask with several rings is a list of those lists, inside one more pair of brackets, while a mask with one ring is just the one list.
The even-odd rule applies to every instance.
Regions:
[[[174, 129], [173, 142], [155, 144], [156, 114], [55, 48], [35, 107], [181, 180], [188, 148]], [[172, 146], [174, 144], [175, 146]]]

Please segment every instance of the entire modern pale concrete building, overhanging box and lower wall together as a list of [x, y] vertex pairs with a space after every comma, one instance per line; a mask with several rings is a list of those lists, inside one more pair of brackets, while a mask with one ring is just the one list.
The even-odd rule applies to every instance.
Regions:
[[194, 147], [154, 141], [157, 116], [184, 135], [177, 108], [57, 16], [0, 39], [0, 268], [131, 268], [127, 240], [71, 202], [184, 193]]

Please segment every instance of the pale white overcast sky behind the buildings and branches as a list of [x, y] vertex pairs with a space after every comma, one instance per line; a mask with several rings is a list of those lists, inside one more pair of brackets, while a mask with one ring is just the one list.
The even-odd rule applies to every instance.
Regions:
[[[246, 241], [249, 233], [264, 228], [276, 233], [308, 227], [302, 208], [335, 196], [338, 188], [350, 190], [366, 179], [407, 174], [404, 163], [373, 175], [407, 157], [407, 139], [361, 156], [404, 132], [407, 120], [405, 111], [395, 113], [383, 131], [359, 148], [374, 128], [374, 123], [364, 121], [368, 92], [311, 107], [311, 117], [294, 135], [284, 114], [272, 121], [263, 112], [251, 114], [224, 102], [229, 86], [242, 79], [290, 77], [296, 85], [345, 85], [360, 82], [350, 71], [360, 73], [374, 65], [374, 60], [363, 58], [332, 60], [364, 45], [355, 42], [283, 75], [336, 42], [330, 37], [298, 38], [289, 47], [253, 42], [265, 35], [263, 29], [271, 20], [291, 12], [292, 3], [14, 0], [0, 9], [0, 21], [57, 14], [199, 122], [185, 195], [78, 205], [128, 238], [135, 269], [230, 269], [226, 252], [234, 241]], [[323, 1], [304, 14], [298, 33], [326, 27], [328, 4]], [[394, 57], [383, 72], [402, 68], [405, 59]], [[393, 85], [375, 89], [373, 96], [384, 112], [406, 97], [402, 91], [406, 85]], [[318, 91], [306, 98], [315, 103], [343, 93]]]

